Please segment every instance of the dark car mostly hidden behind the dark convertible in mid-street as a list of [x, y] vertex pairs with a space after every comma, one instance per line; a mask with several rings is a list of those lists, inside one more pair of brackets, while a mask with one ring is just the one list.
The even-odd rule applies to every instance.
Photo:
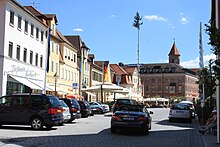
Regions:
[[137, 101], [130, 98], [119, 98], [112, 106], [113, 113], [118, 110], [121, 105], [136, 105]]

